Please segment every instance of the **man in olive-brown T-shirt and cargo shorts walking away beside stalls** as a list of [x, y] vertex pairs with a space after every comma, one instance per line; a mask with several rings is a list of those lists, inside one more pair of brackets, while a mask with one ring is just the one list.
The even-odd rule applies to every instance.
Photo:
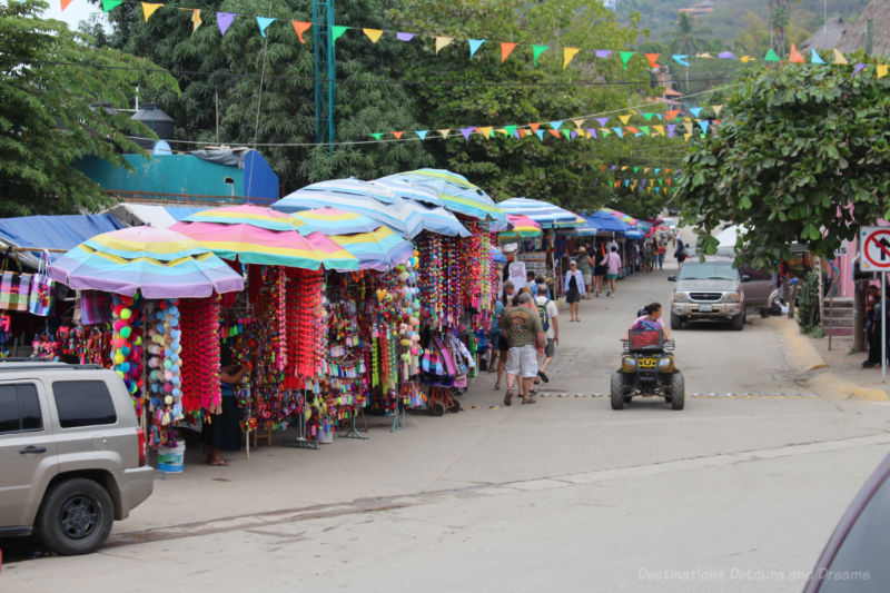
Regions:
[[507, 354], [507, 393], [504, 405], [513, 399], [513, 386], [520, 380], [520, 395], [523, 404], [534, 404], [531, 397], [532, 387], [537, 376], [537, 354], [544, 353], [544, 327], [537, 314], [534, 298], [528, 293], [520, 295], [520, 305], [504, 313], [501, 329], [510, 338]]

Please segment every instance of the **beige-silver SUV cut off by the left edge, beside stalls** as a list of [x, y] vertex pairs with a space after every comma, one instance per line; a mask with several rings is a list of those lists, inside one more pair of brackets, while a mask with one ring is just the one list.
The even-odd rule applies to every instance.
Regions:
[[120, 377], [92, 365], [0, 362], [0, 536], [86, 554], [154, 488]]

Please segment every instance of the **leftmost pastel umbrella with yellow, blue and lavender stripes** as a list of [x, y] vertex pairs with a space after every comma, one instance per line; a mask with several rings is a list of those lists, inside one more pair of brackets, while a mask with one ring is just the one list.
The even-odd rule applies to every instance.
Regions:
[[76, 290], [146, 298], [200, 298], [244, 289], [244, 278], [207, 247], [168, 229], [97, 235], [58, 258], [49, 276]]

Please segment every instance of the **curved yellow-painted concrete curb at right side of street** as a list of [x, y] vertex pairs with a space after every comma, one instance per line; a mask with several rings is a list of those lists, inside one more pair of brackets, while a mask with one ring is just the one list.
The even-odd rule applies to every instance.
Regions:
[[807, 383], [814, 391], [843, 399], [890, 401], [890, 393], [883, 389], [861, 387], [834, 373], [823, 370], [828, 367], [825, 359], [822, 358], [815, 346], [810, 343], [810, 339], [800, 333], [798, 324], [792, 319], [781, 319], [781, 322], [784, 339], [794, 350], [794, 357], [791, 363], [799, 373], [808, 375]]

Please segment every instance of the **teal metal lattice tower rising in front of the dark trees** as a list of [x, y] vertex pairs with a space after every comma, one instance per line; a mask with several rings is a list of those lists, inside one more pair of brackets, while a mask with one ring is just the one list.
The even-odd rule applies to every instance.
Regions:
[[315, 141], [334, 152], [334, 105], [337, 60], [334, 55], [334, 0], [313, 0], [313, 50], [315, 52]]

